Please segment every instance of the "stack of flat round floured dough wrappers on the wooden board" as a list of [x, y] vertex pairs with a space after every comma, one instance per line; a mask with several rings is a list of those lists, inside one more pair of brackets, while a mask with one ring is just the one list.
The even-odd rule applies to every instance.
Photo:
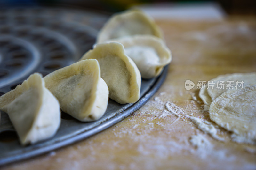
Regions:
[[[221, 82], [229, 85], [220, 88]], [[231, 131], [233, 141], [256, 144], [256, 73], [220, 75], [210, 80], [199, 96], [210, 119]]]

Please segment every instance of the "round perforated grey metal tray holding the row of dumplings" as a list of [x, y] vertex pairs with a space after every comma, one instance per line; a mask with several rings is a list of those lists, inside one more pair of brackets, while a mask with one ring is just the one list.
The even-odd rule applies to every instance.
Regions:
[[[14, 89], [34, 72], [43, 76], [75, 63], [92, 48], [108, 16], [67, 8], [12, 8], [0, 10], [0, 95]], [[140, 100], [119, 104], [109, 99], [100, 120], [80, 122], [61, 113], [56, 135], [21, 146], [8, 115], [1, 112], [0, 166], [50, 152], [90, 137], [120, 122], [145, 104], [162, 85], [168, 68], [149, 80], [142, 79]]]

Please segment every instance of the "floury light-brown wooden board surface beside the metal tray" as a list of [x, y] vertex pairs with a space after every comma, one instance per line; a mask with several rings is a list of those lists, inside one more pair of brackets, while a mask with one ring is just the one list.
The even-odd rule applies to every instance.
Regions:
[[[187, 79], [256, 72], [256, 19], [216, 22], [157, 21], [173, 60], [163, 86], [142, 108], [115, 126], [79, 143], [1, 167], [11, 169], [256, 169], [256, 146], [216, 137], [189, 119], [208, 121], [199, 90]], [[201, 139], [199, 143], [193, 139]]]

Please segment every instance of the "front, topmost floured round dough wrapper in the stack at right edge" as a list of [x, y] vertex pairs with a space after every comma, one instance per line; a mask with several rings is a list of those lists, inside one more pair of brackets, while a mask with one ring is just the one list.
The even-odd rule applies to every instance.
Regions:
[[256, 144], [256, 84], [228, 90], [210, 106], [210, 119], [234, 132], [236, 142]]

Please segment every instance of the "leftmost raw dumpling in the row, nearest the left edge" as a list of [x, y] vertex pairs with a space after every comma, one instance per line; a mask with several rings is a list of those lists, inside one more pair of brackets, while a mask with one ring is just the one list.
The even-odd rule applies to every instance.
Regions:
[[60, 126], [59, 102], [38, 73], [2, 95], [0, 108], [9, 115], [22, 145], [50, 138]]

